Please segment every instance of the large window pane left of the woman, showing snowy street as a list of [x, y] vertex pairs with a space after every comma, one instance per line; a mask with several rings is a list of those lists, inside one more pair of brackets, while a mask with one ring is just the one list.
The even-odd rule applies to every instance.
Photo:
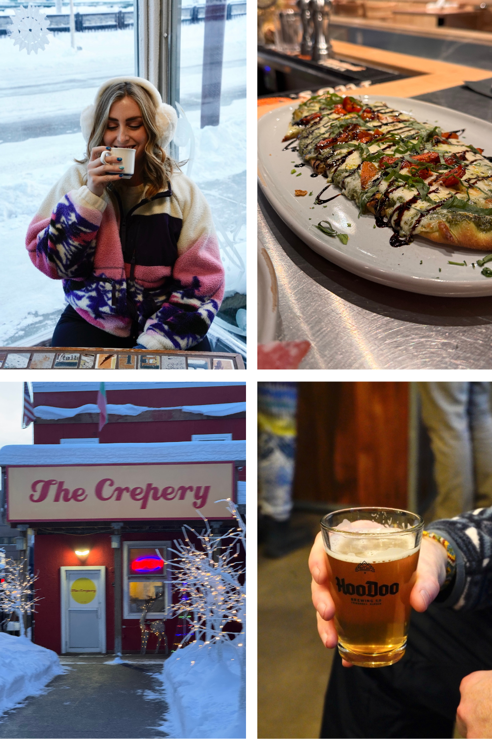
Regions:
[[[41, 10], [58, 16], [52, 23], [68, 24], [62, 18], [69, 13], [67, 3], [61, 15], [55, 7]], [[60, 280], [46, 279], [30, 264], [27, 226], [50, 188], [86, 149], [82, 109], [94, 101], [103, 81], [134, 75], [132, 5], [75, 2], [77, 12], [77, 29], [92, 24], [108, 30], [77, 30], [75, 47], [69, 32], [49, 33], [44, 50], [29, 55], [0, 35], [0, 160], [8, 173], [0, 184], [1, 267], [8, 275], [1, 287], [3, 345], [37, 344], [52, 334], [66, 305], [63, 289]], [[13, 16], [14, 10], [1, 13]]]

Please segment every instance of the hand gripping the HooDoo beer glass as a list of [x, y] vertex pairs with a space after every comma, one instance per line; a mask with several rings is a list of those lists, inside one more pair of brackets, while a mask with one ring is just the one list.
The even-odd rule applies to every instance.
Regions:
[[[429, 607], [439, 593], [441, 585], [446, 579], [446, 549], [439, 542], [423, 537], [420, 546], [420, 556], [417, 565], [417, 579], [410, 593], [410, 605], [417, 611], [424, 611]], [[330, 565], [328, 556], [323, 548], [322, 534], [314, 539], [313, 548], [309, 555], [309, 570], [311, 571], [311, 594], [313, 605], [316, 608], [318, 633], [325, 647], [333, 649], [338, 642], [333, 616], [335, 604], [330, 596], [328, 580]], [[352, 667], [350, 662], [343, 660], [344, 667]]]

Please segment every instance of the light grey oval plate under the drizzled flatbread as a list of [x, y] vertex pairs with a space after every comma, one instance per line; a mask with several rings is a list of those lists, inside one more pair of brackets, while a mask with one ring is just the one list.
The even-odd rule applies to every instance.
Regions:
[[[464, 128], [462, 139], [466, 143], [484, 149], [485, 156], [492, 155], [492, 123], [485, 120], [410, 98], [364, 95], [362, 100], [364, 103], [384, 100], [417, 120], [439, 123], [443, 131]], [[373, 228], [372, 214], [358, 218], [358, 206], [344, 195], [328, 202], [325, 208], [314, 205], [312, 210], [314, 198], [326, 185], [325, 177], [311, 177], [309, 166], [296, 169], [300, 177], [290, 174], [294, 163], [300, 163], [301, 159], [297, 151], [283, 151], [282, 139], [295, 107], [287, 104], [266, 113], [258, 121], [258, 176], [271, 205], [297, 236], [330, 262], [382, 285], [424, 295], [492, 295], [492, 278], [482, 276], [478, 265], [471, 266], [485, 256], [484, 251], [435, 244], [422, 236], [415, 236], [409, 245], [394, 248], [389, 245], [392, 230]], [[312, 191], [313, 195], [296, 197], [296, 189]], [[322, 198], [338, 193], [338, 188], [330, 187]], [[315, 224], [322, 219], [329, 220], [336, 231], [349, 235], [347, 245], [316, 228]], [[467, 267], [448, 264], [463, 260]]]

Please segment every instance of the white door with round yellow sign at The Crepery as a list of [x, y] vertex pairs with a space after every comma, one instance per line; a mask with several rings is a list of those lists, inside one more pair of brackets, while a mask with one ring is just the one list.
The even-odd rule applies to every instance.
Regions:
[[104, 569], [61, 568], [62, 653], [105, 653]]

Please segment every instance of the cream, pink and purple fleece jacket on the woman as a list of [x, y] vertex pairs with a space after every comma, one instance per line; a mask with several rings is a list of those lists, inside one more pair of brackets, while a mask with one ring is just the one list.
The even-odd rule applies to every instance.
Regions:
[[116, 189], [94, 195], [86, 167], [72, 166], [27, 231], [38, 270], [61, 279], [66, 301], [114, 336], [147, 349], [184, 350], [209, 330], [224, 296], [212, 215], [181, 172], [167, 191], [122, 217]]

